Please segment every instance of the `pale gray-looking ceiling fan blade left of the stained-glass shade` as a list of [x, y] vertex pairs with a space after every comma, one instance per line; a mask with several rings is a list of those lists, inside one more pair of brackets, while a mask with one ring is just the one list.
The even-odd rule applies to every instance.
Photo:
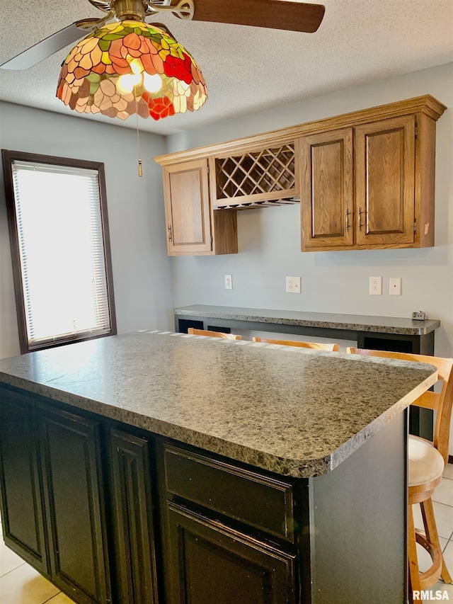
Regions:
[[79, 23], [79, 21], [52, 33], [48, 38], [41, 40], [38, 44], [21, 52], [20, 55], [13, 57], [13, 59], [9, 59], [9, 61], [0, 65], [1, 69], [28, 69], [28, 67], [33, 67], [33, 65], [47, 59], [47, 57], [53, 55], [54, 52], [62, 50], [65, 46], [72, 42], [76, 42], [76, 40], [80, 40], [84, 35], [84, 32], [77, 27], [77, 23]]

